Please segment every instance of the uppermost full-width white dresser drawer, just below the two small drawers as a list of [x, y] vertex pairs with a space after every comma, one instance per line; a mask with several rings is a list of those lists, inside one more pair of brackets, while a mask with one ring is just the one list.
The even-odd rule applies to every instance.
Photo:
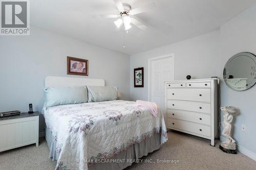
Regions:
[[210, 102], [210, 89], [167, 89], [167, 99]]

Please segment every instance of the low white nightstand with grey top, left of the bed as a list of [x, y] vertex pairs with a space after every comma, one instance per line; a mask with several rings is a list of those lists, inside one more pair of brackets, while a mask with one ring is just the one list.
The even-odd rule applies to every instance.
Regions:
[[39, 112], [0, 117], [0, 152], [36, 144], [38, 147]]

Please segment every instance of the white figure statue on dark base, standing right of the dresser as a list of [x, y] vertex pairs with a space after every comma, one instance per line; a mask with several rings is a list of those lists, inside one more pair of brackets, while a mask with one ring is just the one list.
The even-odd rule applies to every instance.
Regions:
[[222, 123], [223, 131], [222, 134], [226, 136], [226, 141], [222, 142], [220, 148], [222, 151], [227, 153], [237, 153], [236, 150], [236, 141], [230, 136], [231, 133], [231, 123], [233, 120], [233, 114], [237, 113], [237, 108], [232, 106], [221, 107], [221, 110], [224, 112], [224, 122]]

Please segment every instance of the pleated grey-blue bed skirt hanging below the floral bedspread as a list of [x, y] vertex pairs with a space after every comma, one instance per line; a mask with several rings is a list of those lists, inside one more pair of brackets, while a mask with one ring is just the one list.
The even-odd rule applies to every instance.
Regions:
[[[56, 141], [53, 140], [51, 131], [46, 127], [45, 128], [46, 141], [50, 150], [49, 158], [52, 160], [58, 160], [59, 153], [56, 152]], [[135, 162], [139, 158], [146, 156], [148, 153], [156, 151], [160, 148], [160, 137], [161, 134], [154, 134], [151, 138], [147, 138], [140, 143], [135, 143], [131, 145], [127, 150], [115, 155], [111, 160], [117, 160], [116, 162], [99, 162], [88, 165], [89, 170], [105, 170], [105, 169], [114, 169], [120, 170], [124, 169], [127, 166], [131, 166], [132, 162]], [[122, 161], [118, 161], [122, 160]], [[123, 161], [124, 160], [124, 161]], [[129, 160], [129, 161], [126, 161]]]

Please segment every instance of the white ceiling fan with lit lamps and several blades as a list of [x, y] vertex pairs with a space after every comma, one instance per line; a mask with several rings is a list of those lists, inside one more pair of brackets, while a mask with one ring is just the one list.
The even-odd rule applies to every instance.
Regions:
[[155, 8], [155, 3], [150, 3], [145, 6], [132, 9], [132, 7], [129, 4], [122, 3], [121, 0], [114, 0], [117, 9], [119, 10], [119, 14], [111, 14], [111, 15], [101, 15], [102, 17], [106, 18], [118, 18], [114, 21], [117, 28], [120, 28], [122, 25], [124, 25], [124, 30], [129, 30], [132, 28], [132, 25], [137, 26], [141, 30], [145, 30], [146, 26], [143, 25], [139, 20], [135, 19], [134, 17], [131, 17], [133, 15], [137, 15], [142, 12], [146, 12], [148, 10], [152, 10]]

